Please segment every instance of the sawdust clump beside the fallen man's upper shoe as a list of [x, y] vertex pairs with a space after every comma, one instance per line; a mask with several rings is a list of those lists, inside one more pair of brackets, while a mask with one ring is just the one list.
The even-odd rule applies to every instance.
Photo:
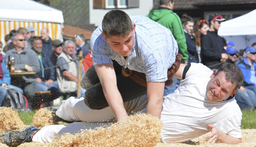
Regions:
[[56, 125], [54, 123], [49, 122], [49, 119], [52, 118], [52, 115], [51, 115], [52, 112], [53, 111], [47, 110], [47, 108], [39, 109], [32, 119], [32, 122], [31, 122], [32, 126], [35, 126], [41, 129], [44, 126]]

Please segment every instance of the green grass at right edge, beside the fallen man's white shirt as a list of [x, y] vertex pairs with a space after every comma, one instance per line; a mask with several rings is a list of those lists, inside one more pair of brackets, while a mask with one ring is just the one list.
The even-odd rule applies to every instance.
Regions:
[[256, 129], [256, 110], [243, 110], [243, 119], [241, 121], [241, 129]]

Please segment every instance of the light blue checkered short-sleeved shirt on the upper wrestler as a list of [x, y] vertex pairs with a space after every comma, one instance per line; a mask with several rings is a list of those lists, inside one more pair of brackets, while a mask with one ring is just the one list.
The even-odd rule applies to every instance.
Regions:
[[167, 69], [175, 62], [178, 45], [169, 29], [140, 15], [130, 16], [135, 23], [135, 44], [131, 54], [124, 59], [114, 52], [104, 40], [102, 25], [91, 36], [93, 65], [117, 61], [124, 68], [146, 74], [147, 81], [165, 82]]

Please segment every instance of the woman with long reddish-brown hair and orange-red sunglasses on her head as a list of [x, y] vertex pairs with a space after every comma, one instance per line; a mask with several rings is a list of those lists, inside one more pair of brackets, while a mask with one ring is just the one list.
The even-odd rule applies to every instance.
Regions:
[[206, 35], [208, 31], [208, 23], [205, 19], [198, 21], [195, 25], [195, 42], [196, 50], [198, 53], [199, 63], [201, 62], [200, 52], [201, 52], [201, 37]]

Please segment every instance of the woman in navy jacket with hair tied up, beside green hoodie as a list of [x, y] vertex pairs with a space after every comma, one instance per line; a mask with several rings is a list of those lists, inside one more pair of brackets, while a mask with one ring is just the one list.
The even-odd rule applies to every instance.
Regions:
[[198, 54], [196, 51], [196, 44], [193, 33], [194, 20], [187, 16], [186, 14], [182, 15], [182, 26], [185, 32], [187, 50], [188, 50], [188, 64], [189, 63], [198, 63]]

